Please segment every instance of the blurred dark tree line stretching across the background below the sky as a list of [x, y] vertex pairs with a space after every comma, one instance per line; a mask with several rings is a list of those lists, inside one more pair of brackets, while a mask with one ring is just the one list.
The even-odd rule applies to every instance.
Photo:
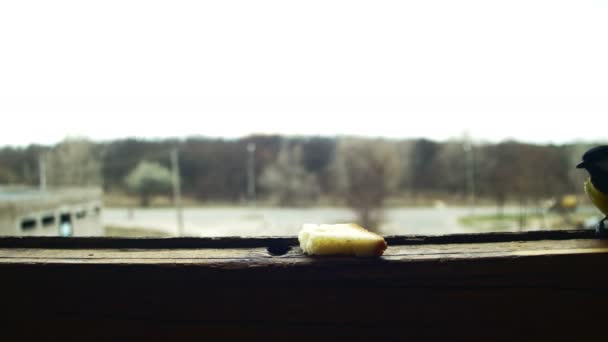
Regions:
[[[259, 198], [283, 206], [333, 199], [370, 222], [390, 196], [450, 198], [462, 204], [475, 197], [501, 207], [514, 201], [536, 205], [546, 198], [581, 193], [584, 174], [574, 165], [589, 147], [516, 141], [471, 145], [466, 137], [445, 142], [278, 135], [67, 139], [54, 146], [0, 149], [0, 184], [37, 184], [42, 156], [49, 186], [100, 185], [106, 192], [127, 193], [137, 184], [147, 184], [134, 178], [138, 166], [140, 175], [147, 168], [156, 170], [156, 179], [169, 179], [169, 153], [178, 149], [184, 195], [208, 202], [241, 202], [247, 200], [249, 143], [256, 146]], [[147, 164], [142, 166], [143, 162]]]

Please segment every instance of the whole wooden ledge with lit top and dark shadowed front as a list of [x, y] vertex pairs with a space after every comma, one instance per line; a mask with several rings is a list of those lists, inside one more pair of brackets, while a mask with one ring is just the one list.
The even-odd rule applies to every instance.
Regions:
[[608, 242], [0, 249], [0, 340], [605, 341]]

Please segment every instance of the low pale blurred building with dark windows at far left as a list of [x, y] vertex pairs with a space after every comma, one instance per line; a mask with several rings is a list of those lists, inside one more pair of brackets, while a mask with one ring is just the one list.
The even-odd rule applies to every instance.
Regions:
[[0, 187], [0, 235], [100, 236], [101, 190]]

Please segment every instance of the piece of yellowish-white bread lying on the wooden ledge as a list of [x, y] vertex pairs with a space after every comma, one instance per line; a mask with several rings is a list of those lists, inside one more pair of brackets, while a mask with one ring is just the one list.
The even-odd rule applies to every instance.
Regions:
[[354, 223], [305, 224], [298, 234], [300, 247], [309, 255], [380, 256], [386, 241]]

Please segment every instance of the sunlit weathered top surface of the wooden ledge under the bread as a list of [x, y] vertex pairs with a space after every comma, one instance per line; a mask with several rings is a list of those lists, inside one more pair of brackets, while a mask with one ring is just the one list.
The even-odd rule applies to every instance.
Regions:
[[433, 259], [470, 259], [524, 257], [532, 255], [608, 253], [608, 241], [599, 239], [515, 241], [485, 244], [437, 244], [389, 246], [383, 257], [357, 259], [348, 257], [310, 257], [299, 247], [285, 255], [273, 255], [266, 248], [204, 249], [0, 249], [0, 263], [184, 263], [218, 264], [242, 261], [248, 264], [309, 264], [318, 262], [387, 262]]

